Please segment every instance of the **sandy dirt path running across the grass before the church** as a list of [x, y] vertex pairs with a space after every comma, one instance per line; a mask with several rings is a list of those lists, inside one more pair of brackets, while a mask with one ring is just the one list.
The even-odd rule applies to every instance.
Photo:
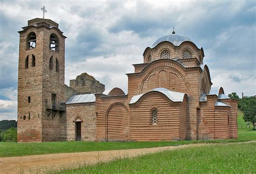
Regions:
[[96, 164], [98, 162], [110, 161], [112, 159], [120, 157], [134, 157], [164, 150], [182, 149], [187, 147], [201, 147], [205, 145], [212, 145], [212, 143], [186, 144], [179, 146], [143, 149], [125, 149], [109, 151], [76, 152], [66, 154], [31, 155], [21, 157], [3, 157], [0, 158], [0, 173], [42, 173], [45, 172], [46, 169], [57, 170], [59, 168], [75, 168], [78, 167], [79, 165]]

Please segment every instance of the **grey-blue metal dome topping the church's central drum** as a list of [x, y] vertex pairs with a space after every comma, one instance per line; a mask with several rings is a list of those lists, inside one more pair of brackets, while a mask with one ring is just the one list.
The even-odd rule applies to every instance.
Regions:
[[157, 44], [161, 43], [162, 41], [170, 41], [174, 46], [179, 46], [184, 41], [191, 41], [191, 40], [186, 36], [181, 36], [178, 34], [169, 34], [167, 36], [163, 36], [157, 39], [157, 41], [155, 41], [154, 44], [152, 45], [152, 48], [155, 47]]

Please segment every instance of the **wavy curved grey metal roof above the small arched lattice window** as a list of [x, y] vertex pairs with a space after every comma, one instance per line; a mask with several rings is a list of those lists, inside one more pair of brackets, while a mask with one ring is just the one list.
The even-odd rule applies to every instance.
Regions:
[[[174, 101], [174, 102], [179, 102], [179, 101], [182, 102], [184, 95], [185, 95], [185, 93], [170, 91], [169, 89], [166, 89], [166, 88], [154, 88], [151, 91], [160, 92], [160, 93], [164, 94], [165, 96], [167, 96], [167, 98], [169, 98], [171, 101]], [[151, 91], [149, 91], [149, 92], [151, 92]], [[146, 92], [146, 93], [149, 93], [149, 92]], [[136, 103], [146, 93], [134, 95], [129, 104]]]

